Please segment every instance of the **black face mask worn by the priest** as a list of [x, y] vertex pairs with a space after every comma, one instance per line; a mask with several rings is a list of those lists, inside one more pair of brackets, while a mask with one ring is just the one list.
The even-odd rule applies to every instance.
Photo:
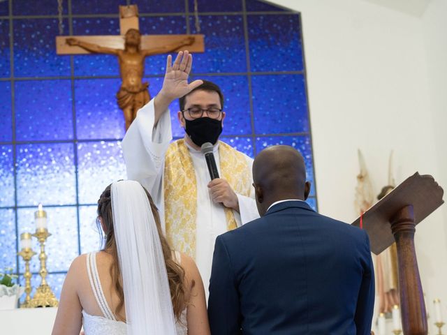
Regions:
[[206, 142], [216, 144], [219, 135], [222, 133], [221, 120], [199, 117], [191, 121], [184, 119], [184, 121], [186, 134], [198, 147], [202, 147], [202, 144]]

